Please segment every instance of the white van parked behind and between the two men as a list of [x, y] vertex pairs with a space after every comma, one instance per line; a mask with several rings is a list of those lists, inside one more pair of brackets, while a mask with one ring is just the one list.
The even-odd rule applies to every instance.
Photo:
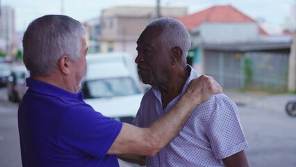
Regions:
[[88, 67], [81, 88], [85, 102], [104, 116], [131, 123], [143, 96], [131, 56], [108, 53], [86, 58]]

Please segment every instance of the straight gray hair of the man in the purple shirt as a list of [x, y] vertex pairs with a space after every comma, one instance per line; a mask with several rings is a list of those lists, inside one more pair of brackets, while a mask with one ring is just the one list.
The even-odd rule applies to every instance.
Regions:
[[84, 34], [83, 24], [65, 15], [44, 15], [33, 20], [23, 38], [26, 68], [33, 76], [49, 76], [62, 56], [77, 61]]

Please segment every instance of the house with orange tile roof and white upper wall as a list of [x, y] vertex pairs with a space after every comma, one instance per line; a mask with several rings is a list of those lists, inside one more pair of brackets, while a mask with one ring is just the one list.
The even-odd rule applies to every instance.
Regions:
[[268, 35], [254, 19], [231, 5], [213, 6], [177, 19], [191, 35], [189, 57], [200, 74], [204, 74], [202, 45], [252, 43]]

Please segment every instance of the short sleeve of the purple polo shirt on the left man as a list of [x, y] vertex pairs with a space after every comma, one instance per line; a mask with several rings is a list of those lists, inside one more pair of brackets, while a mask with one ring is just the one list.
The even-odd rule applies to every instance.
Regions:
[[88, 104], [73, 106], [65, 113], [62, 122], [60, 144], [69, 150], [80, 150], [99, 159], [106, 156], [122, 127], [121, 122], [115, 124], [115, 120], [92, 111]]

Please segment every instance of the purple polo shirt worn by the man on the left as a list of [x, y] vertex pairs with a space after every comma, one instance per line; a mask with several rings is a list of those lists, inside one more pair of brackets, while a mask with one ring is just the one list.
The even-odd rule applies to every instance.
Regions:
[[122, 122], [94, 111], [82, 93], [29, 78], [26, 82], [18, 111], [23, 166], [119, 166], [117, 156], [106, 153]]

